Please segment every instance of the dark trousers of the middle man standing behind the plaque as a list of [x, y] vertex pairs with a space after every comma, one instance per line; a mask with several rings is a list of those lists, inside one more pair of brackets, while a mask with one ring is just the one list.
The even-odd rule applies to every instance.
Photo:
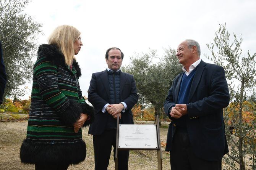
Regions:
[[[109, 158], [116, 145], [117, 130], [105, 130], [101, 135], [93, 135], [95, 170], [107, 170]], [[118, 151], [118, 170], [128, 170], [129, 151]]]

